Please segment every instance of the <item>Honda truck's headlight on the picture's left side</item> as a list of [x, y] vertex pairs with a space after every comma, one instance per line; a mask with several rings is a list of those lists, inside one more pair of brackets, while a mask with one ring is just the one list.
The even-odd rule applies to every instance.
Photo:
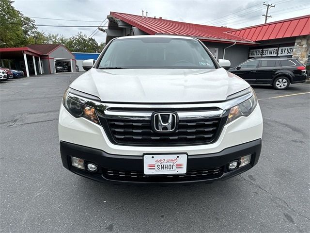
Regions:
[[69, 88], [65, 91], [62, 99], [63, 106], [68, 110], [68, 112], [76, 118], [84, 117], [100, 125], [95, 109], [78, 101], [70, 99], [68, 97], [68, 93]]

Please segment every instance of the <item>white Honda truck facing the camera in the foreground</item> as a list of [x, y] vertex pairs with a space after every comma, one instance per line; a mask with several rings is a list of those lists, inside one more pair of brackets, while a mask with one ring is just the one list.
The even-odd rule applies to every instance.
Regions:
[[63, 166], [125, 183], [213, 182], [245, 172], [259, 160], [263, 118], [253, 89], [229, 67], [194, 38], [111, 40], [64, 93]]

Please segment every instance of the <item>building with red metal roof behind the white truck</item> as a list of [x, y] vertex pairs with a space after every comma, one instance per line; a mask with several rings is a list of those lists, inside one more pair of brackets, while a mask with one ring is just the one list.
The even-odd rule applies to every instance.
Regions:
[[310, 15], [242, 29], [118, 12], [110, 12], [107, 18], [107, 43], [127, 35], [190, 36], [201, 40], [216, 58], [230, 60], [232, 66], [254, 56], [294, 56], [306, 64], [310, 50]]

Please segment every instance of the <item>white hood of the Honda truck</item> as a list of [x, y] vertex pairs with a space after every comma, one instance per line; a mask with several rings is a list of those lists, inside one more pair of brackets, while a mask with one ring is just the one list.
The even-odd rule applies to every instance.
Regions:
[[70, 87], [106, 102], [184, 103], [226, 100], [249, 84], [223, 68], [92, 68]]

